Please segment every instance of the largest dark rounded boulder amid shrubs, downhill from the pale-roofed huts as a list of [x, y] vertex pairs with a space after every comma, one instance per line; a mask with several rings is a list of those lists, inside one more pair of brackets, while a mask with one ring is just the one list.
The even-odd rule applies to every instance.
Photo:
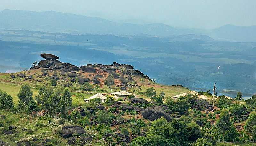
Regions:
[[161, 118], [162, 116], [167, 120], [170, 121], [172, 117], [166, 113], [161, 106], [155, 106], [155, 107], [147, 107], [143, 112], [142, 116], [145, 119], [148, 119], [150, 121], [154, 121], [158, 118]]

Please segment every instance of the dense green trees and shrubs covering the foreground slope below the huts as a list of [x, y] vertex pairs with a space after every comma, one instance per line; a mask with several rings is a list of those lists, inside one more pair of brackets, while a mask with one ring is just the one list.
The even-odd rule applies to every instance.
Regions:
[[[68, 88], [42, 85], [33, 98], [31, 87], [23, 84], [17, 94], [18, 104], [14, 104], [12, 96], [0, 92], [0, 132], [3, 134], [0, 140], [10, 145], [28, 142], [30, 145], [111, 143], [130, 146], [224, 146], [249, 142], [253, 145], [256, 140], [255, 96], [244, 105], [220, 96], [217, 107], [207, 107], [206, 100], [193, 94], [177, 100], [165, 99], [164, 91], [157, 95], [154, 88], [148, 88], [146, 94], [152, 99], [151, 103], [131, 103], [129, 99], [134, 96], [117, 102], [113, 96], [108, 96], [106, 103], [93, 99], [72, 109]], [[84, 95], [76, 96], [79, 99]], [[140, 116], [140, 111], [127, 110], [123, 106], [160, 106], [171, 115], [171, 120], [162, 116], [149, 121]], [[62, 127], [67, 125], [79, 125], [85, 133], [73, 133], [70, 138], [63, 138]], [[12, 134], [8, 134], [10, 132]], [[87, 140], [84, 142], [84, 139]]]

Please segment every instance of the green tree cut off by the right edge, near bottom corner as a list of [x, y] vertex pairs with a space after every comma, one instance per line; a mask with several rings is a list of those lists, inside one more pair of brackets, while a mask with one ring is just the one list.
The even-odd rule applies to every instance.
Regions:
[[249, 114], [249, 118], [246, 120], [244, 125], [244, 131], [252, 139], [256, 138], [256, 112], [253, 111]]

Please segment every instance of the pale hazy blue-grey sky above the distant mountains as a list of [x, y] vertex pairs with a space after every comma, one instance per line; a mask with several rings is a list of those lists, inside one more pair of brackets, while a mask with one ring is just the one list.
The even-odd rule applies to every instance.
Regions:
[[256, 25], [256, 0], [0, 0], [4, 9], [58, 11], [177, 28]]

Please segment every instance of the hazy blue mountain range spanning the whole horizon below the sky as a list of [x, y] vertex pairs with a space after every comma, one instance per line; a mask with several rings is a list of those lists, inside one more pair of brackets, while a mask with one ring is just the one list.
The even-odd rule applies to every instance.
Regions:
[[216, 40], [256, 42], [256, 26], [225, 25], [213, 30], [177, 29], [163, 23], [122, 24], [102, 18], [54, 11], [3, 10], [0, 12], [0, 28], [80, 34], [147, 34], [160, 37], [195, 34], [201, 37], [208, 35]]

